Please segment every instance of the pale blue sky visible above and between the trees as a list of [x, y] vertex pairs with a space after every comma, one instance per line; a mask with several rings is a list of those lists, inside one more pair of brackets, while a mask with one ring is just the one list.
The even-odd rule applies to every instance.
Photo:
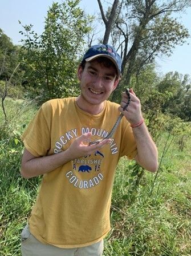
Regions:
[[[55, 0], [61, 3], [62, 0]], [[19, 31], [22, 30], [21, 24], [33, 25], [33, 30], [40, 34], [44, 27], [44, 17], [46, 17], [52, 0], [0, 0], [0, 28], [11, 38], [13, 44], [21, 44], [22, 36]], [[88, 14], [99, 13], [97, 0], [82, 0], [80, 7]], [[189, 29], [191, 35], [191, 8], [181, 15], [180, 21]], [[104, 29], [104, 28], [103, 28]], [[96, 42], [95, 42], [96, 43]], [[160, 74], [170, 71], [177, 71], [181, 74], [191, 75], [191, 38], [182, 46], [176, 46], [170, 57], [157, 58], [156, 70]]]

